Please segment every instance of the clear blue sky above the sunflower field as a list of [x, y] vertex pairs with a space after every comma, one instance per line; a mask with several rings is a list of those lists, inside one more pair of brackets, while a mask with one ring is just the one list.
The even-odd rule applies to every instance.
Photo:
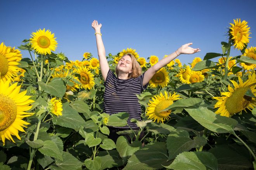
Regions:
[[[0, 0], [0, 42], [17, 47], [31, 32], [45, 28], [57, 37], [55, 52], [70, 60], [81, 60], [84, 52], [98, 58], [91, 27], [97, 19], [106, 54], [133, 48], [141, 57], [162, 58], [193, 42], [201, 52], [178, 57], [189, 63], [208, 52], [221, 53], [220, 42], [227, 40], [224, 35], [236, 18], [248, 22], [252, 32], [248, 46], [256, 46], [255, 9], [255, 0]], [[232, 49], [232, 56], [239, 54]]]

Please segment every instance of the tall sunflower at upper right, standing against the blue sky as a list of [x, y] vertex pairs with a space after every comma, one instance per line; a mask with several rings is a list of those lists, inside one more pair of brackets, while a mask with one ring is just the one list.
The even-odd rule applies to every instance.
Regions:
[[244, 49], [245, 44], [249, 43], [249, 32], [250, 27], [247, 26], [247, 23], [245, 20], [241, 22], [241, 19], [234, 19], [234, 24], [230, 23], [230, 38], [233, 41], [233, 46], [236, 49]]

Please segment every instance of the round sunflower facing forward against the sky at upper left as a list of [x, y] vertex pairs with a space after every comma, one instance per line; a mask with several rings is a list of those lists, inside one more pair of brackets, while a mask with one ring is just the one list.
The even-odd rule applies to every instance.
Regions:
[[32, 32], [31, 37], [32, 48], [39, 54], [51, 54], [51, 51], [55, 51], [58, 44], [50, 30], [45, 32], [45, 29], [39, 29], [36, 32]]

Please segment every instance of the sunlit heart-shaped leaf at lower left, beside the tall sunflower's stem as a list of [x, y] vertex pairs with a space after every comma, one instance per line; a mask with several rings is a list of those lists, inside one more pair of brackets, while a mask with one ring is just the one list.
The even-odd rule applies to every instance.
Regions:
[[40, 151], [43, 155], [51, 156], [62, 160], [61, 152], [59, 151], [58, 146], [53, 141], [44, 141], [43, 147], [39, 148], [38, 151]]

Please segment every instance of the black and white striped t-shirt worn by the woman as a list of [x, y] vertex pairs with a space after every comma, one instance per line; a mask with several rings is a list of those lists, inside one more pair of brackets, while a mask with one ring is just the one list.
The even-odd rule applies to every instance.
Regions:
[[[137, 78], [129, 78], [126, 80], [119, 79], [113, 71], [109, 69], [104, 91], [104, 112], [107, 114], [115, 114], [119, 112], [128, 112], [128, 125], [131, 128], [137, 128], [136, 123], [130, 120], [138, 119], [141, 121], [141, 107], [136, 94], [140, 94], [147, 88], [148, 83], [143, 86], [144, 73]], [[118, 128], [129, 128], [128, 126]]]

